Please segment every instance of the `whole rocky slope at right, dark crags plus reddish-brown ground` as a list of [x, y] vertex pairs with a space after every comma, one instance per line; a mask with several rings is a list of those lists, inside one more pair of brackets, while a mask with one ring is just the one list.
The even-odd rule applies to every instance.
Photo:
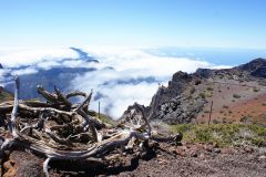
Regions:
[[[266, 60], [226, 70], [198, 69], [195, 73], [176, 72], [167, 86], [160, 86], [150, 106], [151, 119], [168, 124], [207, 122], [213, 102], [212, 121], [266, 124]], [[253, 103], [256, 101], [256, 103]], [[253, 103], [253, 104], [252, 104]], [[241, 110], [245, 105], [245, 110]], [[248, 105], [248, 107], [247, 107]], [[130, 116], [130, 106], [123, 114]]]

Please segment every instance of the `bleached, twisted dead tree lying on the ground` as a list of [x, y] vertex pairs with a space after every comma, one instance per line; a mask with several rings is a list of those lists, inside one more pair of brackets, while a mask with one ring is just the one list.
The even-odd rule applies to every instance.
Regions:
[[[43, 163], [45, 176], [49, 176], [48, 165], [51, 160], [100, 158], [104, 162], [103, 158], [116, 148], [133, 148], [144, 140], [176, 140], [176, 136], [153, 136], [150, 117], [145, 116], [137, 103], [141, 117], [133, 116], [112, 126], [89, 114], [92, 92], [63, 94], [54, 86], [54, 93], [50, 93], [38, 85], [38, 93], [47, 102], [20, 101], [18, 76], [14, 77], [14, 101], [0, 104], [0, 113], [3, 115], [0, 117], [1, 123], [8, 124], [12, 135], [11, 138], [0, 136], [0, 153], [3, 155], [12, 146], [19, 146], [42, 155], [47, 158]], [[73, 96], [85, 98], [80, 104], [72, 104], [69, 98]]]

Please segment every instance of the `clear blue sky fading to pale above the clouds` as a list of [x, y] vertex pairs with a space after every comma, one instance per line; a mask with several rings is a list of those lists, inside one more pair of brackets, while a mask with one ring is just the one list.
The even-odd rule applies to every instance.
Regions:
[[266, 48], [265, 0], [0, 0], [0, 48]]

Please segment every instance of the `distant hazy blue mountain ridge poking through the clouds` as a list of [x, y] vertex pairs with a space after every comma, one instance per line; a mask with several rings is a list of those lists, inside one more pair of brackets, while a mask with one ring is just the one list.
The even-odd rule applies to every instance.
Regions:
[[[85, 63], [99, 63], [99, 61], [92, 56], [89, 56], [89, 53], [83, 52], [81, 49], [78, 48], [70, 48], [71, 50], [75, 51], [79, 54], [79, 60], [84, 61]], [[45, 61], [45, 60], [44, 60]], [[65, 58], [60, 60], [60, 63], [63, 62], [76, 62], [76, 59]], [[35, 86], [38, 84], [43, 85], [47, 90], [52, 91], [53, 86], [57, 85], [61, 91], [66, 92], [68, 87], [70, 85], [70, 82], [79, 74], [84, 74], [88, 72], [96, 71], [95, 67], [88, 67], [88, 66], [65, 66], [65, 65], [57, 65], [52, 66], [50, 69], [42, 69], [38, 66], [39, 63], [35, 63], [33, 65], [21, 65], [19, 67], [11, 67], [9, 70], [11, 71], [25, 71], [27, 69], [34, 69], [37, 72], [29, 73], [29, 74], [21, 74], [20, 81], [21, 81], [21, 87], [20, 92], [21, 98], [35, 98], [40, 97], [40, 95], [37, 93]], [[12, 75], [11, 73], [6, 73], [3, 75], [6, 77], [7, 84], [4, 84], [4, 88], [7, 91], [13, 92], [13, 83], [12, 83]]]

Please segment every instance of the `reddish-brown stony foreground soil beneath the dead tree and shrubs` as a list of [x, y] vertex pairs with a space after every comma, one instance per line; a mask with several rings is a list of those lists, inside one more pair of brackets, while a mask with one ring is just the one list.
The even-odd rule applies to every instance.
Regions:
[[[264, 177], [266, 154], [252, 147], [219, 148], [215, 144], [152, 145], [146, 150], [113, 154], [116, 160], [109, 166], [91, 162], [51, 163], [52, 177], [89, 176], [215, 176], [215, 177]], [[117, 152], [116, 152], [117, 153]], [[4, 177], [43, 176], [44, 158], [29, 152], [14, 150], [6, 160]]]

